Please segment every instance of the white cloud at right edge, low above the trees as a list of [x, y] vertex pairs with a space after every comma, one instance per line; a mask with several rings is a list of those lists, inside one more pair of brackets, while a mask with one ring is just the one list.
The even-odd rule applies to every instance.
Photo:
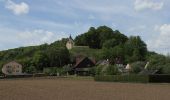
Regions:
[[161, 26], [156, 25], [155, 32], [159, 32], [152, 40], [148, 41], [148, 47], [159, 53], [167, 54], [170, 52], [170, 24]]

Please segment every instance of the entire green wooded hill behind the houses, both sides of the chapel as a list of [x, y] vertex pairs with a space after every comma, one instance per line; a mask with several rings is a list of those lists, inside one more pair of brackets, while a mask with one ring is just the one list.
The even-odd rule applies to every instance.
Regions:
[[146, 43], [140, 36], [127, 37], [118, 30], [100, 26], [91, 27], [87, 32], [75, 37], [75, 45], [80, 47], [67, 50], [65, 47], [67, 40], [64, 38], [51, 44], [1, 51], [0, 67], [15, 60], [24, 66], [25, 72], [41, 72], [46, 67], [63, 67], [73, 63], [74, 57], [81, 54], [96, 60], [109, 59], [112, 64], [116, 59], [124, 64], [149, 61], [150, 69], [162, 68], [166, 69], [165, 73], [170, 73], [170, 57], [148, 51]]

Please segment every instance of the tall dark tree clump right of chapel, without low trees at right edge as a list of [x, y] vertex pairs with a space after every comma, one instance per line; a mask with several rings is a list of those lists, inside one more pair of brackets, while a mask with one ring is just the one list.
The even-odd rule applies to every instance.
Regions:
[[91, 27], [88, 32], [75, 38], [76, 45], [102, 49], [100, 59], [109, 59], [112, 63], [145, 61], [147, 45], [139, 36], [127, 37], [118, 30], [113, 31], [107, 26]]

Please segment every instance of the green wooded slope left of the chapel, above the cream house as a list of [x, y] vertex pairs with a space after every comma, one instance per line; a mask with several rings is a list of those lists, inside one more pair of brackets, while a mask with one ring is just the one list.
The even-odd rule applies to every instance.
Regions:
[[24, 72], [42, 72], [46, 67], [62, 67], [70, 63], [70, 54], [65, 47], [67, 39], [52, 44], [20, 47], [0, 52], [0, 67], [10, 61], [17, 61]]

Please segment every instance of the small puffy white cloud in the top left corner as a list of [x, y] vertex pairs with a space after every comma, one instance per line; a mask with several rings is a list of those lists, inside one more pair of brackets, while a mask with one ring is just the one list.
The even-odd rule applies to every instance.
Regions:
[[11, 10], [15, 15], [27, 14], [29, 12], [29, 5], [25, 2], [17, 4], [12, 0], [7, 0], [5, 7]]

